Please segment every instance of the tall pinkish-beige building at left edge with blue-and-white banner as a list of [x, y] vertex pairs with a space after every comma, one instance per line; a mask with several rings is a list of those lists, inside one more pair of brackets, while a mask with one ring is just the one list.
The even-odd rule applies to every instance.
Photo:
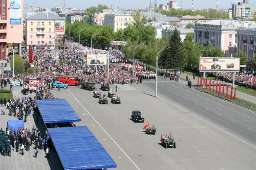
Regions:
[[23, 39], [23, 0], [0, 1], [0, 60], [10, 52], [11, 44], [21, 54]]

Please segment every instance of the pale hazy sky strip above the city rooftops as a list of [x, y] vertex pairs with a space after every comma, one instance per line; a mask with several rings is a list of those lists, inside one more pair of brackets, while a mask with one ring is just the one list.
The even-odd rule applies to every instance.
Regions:
[[[181, 0], [178, 1], [178, 6], [181, 5]], [[235, 0], [239, 1], [239, 0]], [[242, 0], [240, 0], [242, 1]], [[24, 6], [41, 6], [41, 7], [57, 7], [61, 5], [62, 0], [24, 0]], [[164, 4], [167, 5], [169, 0], [157, 0], [157, 5]], [[237, 2], [235, 2], [237, 3]], [[65, 0], [66, 7], [75, 7], [77, 9], [86, 9], [87, 7], [97, 6], [98, 4], [106, 4], [108, 7], [113, 8], [119, 7], [119, 9], [145, 9], [149, 7], [150, 0]], [[192, 0], [182, 0], [182, 8], [191, 8]], [[217, 0], [194, 0], [194, 8], [198, 9], [216, 9]], [[249, 4], [254, 5], [256, 9], [256, 0], [249, 0]], [[219, 0], [219, 9], [231, 8], [230, 0]]]

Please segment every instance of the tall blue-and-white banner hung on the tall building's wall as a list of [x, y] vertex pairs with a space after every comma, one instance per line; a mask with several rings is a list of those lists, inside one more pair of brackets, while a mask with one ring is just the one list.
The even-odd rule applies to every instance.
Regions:
[[22, 0], [10, 1], [10, 25], [22, 24]]

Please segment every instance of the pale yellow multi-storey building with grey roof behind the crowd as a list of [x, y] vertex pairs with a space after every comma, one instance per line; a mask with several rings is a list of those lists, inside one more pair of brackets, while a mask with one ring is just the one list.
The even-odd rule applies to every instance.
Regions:
[[65, 19], [53, 13], [38, 13], [26, 19], [26, 48], [53, 49], [64, 46]]

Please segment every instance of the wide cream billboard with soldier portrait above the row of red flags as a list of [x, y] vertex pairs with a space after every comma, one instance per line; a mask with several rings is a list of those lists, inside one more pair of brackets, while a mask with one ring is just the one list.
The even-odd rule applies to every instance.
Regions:
[[199, 58], [199, 71], [200, 72], [219, 72], [231, 71], [238, 72], [240, 70], [240, 58], [212, 58], [200, 57]]

